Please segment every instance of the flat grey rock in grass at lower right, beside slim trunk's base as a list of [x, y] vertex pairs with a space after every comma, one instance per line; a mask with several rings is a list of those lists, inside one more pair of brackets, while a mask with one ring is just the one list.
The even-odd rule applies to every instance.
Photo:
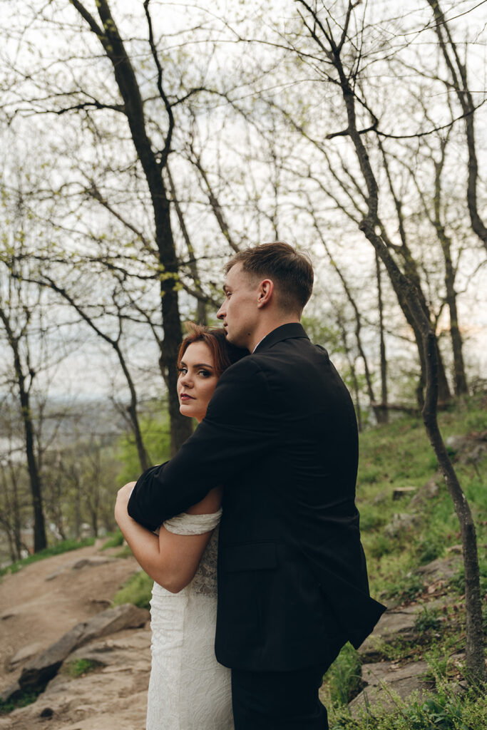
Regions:
[[362, 680], [367, 686], [348, 705], [352, 717], [358, 717], [361, 710], [367, 709], [370, 704], [380, 704], [384, 710], [392, 710], [396, 706], [396, 696], [407, 699], [414, 691], [421, 696], [434, 685], [432, 680], [424, 677], [427, 672], [426, 661], [415, 661], [405, 666], [391, 661], [362, 665]]

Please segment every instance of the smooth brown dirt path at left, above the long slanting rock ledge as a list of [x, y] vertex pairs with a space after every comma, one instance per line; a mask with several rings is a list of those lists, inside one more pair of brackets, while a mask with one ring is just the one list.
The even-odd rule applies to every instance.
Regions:
[[[0, 691], [18, 676], [12, 658], [29, 645], [44, 650], [80, 621], [109, 607], [112, 596], [137, 570], [134, 558], [72, 569], [83, 558], [110, 558], [99, 545], [33, 563], [0, 583]], [[118, 548], [119, 549], [119, 548]], [[117, 552], [117, 550], [115, 552]], [[58, 575], [53, 576], [53, 574]]]

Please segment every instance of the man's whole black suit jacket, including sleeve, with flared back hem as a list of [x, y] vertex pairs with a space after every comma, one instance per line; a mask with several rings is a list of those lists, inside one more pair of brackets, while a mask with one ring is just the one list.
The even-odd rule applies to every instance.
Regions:
[[297, 323], [223, 373], [177, 455], [148, 469], [129, 515], [154, 529], [223, 484], [218, 661], [285, 671], [355, 647], [384, 607], [358, 529], [358, 434], [347, 388]]

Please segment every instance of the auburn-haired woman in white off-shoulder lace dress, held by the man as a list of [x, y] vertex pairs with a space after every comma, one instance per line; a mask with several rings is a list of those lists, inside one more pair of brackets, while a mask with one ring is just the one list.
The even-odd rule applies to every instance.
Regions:
[[[229, 345], [223, 329], [191, 324], [188, 330], [177, 393], [180, 412], [200, 423], [221, 373], [246, 351]], [[221, 489], [215, 486], [188, 512], [166, 520], [157, 536], [127, 514], [133, 485], [118, 492], [115, 519], [155, 581], [146, 730], [231, 730], [230, 670], [214, 652]]]

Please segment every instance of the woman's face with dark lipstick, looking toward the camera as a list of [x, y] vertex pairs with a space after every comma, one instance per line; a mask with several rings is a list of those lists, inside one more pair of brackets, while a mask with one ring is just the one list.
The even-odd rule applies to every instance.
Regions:
[[218, 383], [210, 347], [201, 340], [191, 342], [179, 363], [179, 372], [177, 396], [180, 413], [196, 418], [200, 423]]

